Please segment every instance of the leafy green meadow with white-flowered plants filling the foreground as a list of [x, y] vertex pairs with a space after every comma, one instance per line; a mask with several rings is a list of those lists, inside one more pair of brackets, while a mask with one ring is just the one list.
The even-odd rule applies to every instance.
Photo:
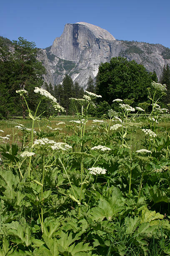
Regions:
[[114, 99], [117, 113], [90, 121], [101, 96], [86, 92], [67, 123], [37, 116], [45, 99], [63, 109], [36, 87], [32, 128], [1, 121], [0, 255], [170, 255], [170, 116], [155, 100], [166, 87], [153, 87], [149, 114]]

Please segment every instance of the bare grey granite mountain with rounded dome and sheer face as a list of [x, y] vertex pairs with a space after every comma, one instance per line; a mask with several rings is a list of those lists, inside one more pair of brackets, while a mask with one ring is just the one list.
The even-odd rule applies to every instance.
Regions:
[[142, 63], [148, 71], [160, 77], [163, 66], [170, 65], [170, 49], [160, 44], [136, 41], [118, 41], [108, 31], [98, 26], [77, 22], [67, 23], [52, 46], [42, 50], [39, 59], [47, 69], [46, 82], [54, 86], [62, 82], [65, 74], [82, 87], [89, 76], [95, 78], [101, 62], [122, 56]]

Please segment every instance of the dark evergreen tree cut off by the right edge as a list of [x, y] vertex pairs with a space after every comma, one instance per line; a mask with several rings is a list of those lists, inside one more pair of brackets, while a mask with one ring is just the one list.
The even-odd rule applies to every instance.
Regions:
[[162, 76], [160, 78], [160, 83], [161, 84], [166, 84], [167, 87], [167, 95], [165, 97], [163, 97], [163, 102], [165, 104], [169, 104], [170, 103], [170, 67], [167, 66], [163, 67], [163, 72], [162, 72]]

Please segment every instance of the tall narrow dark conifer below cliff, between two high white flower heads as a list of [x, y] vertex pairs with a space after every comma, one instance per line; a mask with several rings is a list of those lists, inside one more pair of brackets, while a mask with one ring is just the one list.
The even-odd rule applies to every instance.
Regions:
[[72, 82], [71, 77], [69, 77], [67, 74], [65, 75], [62, 81], [62, 88], [63, 88], [63, 107], [65, 108], [66, 115], [68, 115], [68, 109], [70, 105], [69, 98], [73, 96], [74, 84]]

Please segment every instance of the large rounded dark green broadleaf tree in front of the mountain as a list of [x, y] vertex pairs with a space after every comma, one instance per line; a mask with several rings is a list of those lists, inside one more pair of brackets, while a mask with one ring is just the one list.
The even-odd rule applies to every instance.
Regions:
[[96, 91], [110, 104], [116, 98], [135, 98], [135, 103], [143, 102], [147, 99], [147, 88], [151, 87], [151, 75], [142, 64], [115, 57], [110, 63], [100, 64]]

